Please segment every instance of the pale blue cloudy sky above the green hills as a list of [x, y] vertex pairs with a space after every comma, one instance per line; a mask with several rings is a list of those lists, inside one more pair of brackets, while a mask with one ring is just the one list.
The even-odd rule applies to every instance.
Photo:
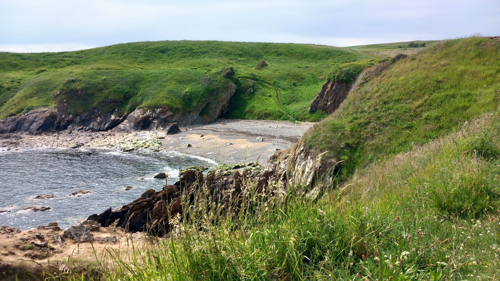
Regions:
[[0, 51], [157, 40], [353, 46], [500, 36], [500, 0], [0, 0]]

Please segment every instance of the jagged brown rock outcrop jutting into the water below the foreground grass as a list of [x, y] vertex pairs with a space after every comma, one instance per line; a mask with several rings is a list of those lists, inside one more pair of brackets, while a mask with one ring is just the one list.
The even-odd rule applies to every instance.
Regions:
[[[300, 142], [299, 142], [300, 143]], [[173, 185], [161, 190], [148, 189], [142, 195], [118, 208], [108, 208], [87, 219], [102, 226], [115, 225], [129, 232], [148, 231], [154, 235], [168, 233], [172, 218], [185, 213], [195, 217], [215, 208], [217, 213], [237, 213], [245, 198], [260, 196], [264, 202], [268, 194], [283, 194], [288, 186], [299, 186], [298, 195], [316, 199], [338, 163], [327, 160], [325, 153], [316, 155], [296, 145], [278, 151], [264, 165], [256, 168], [220, 169], [203, 173], [189, 169]], [[244, 165], [243, 165], [244, 166]], [[252, 184], [245, 184], [251, 180]], [[295, 191], [295, 190], [293, 190]]]

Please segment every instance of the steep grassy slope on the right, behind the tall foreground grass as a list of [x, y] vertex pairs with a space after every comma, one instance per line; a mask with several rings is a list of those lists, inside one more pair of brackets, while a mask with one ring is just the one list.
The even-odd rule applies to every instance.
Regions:
[[480, 37], [449, 40], [399, 60], [315, 124], [306, 145], [344, 160], [348, 174], [492, 112], [500, 95], [499, 46]]

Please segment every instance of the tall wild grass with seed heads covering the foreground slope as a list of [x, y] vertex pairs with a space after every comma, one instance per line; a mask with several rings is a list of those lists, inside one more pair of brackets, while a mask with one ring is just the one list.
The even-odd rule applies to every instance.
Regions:
[[254, 215], [206, 205], [205, 216], [172, 219], [172, 235], [142, 252], [108, 253], [100, 270], [109, 280], [493, 280], [499, 175], [496, 111], [371, 166], [317, 202], [274, 185], [258, 204], [250, 180], [243, 205], [256, 206]]

